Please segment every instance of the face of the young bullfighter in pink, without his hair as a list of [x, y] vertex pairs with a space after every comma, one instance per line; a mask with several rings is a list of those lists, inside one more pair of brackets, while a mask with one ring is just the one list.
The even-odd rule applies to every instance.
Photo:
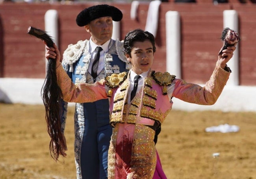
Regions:
[[137, 74], [147, 72], [152, 66], [154, 52], [152, 43], [149, 40], [144, 42], [134, 42], [131, 56], [126, 54], [126, 58], [132, 64], [132, 70]]

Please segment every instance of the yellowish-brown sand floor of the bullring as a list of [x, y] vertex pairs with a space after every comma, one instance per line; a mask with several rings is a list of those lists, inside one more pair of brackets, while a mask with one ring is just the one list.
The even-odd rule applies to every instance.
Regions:
[[[0, 179], [75, 179], [73, 113], [69, 107], [67, 158], [55, 162], [44, 106], [0, 103]], [[226, 123], [239, 132], [205, 132]], [[256, 113], [171, 111], [156, 148], [168, 179], [256, 179]]]

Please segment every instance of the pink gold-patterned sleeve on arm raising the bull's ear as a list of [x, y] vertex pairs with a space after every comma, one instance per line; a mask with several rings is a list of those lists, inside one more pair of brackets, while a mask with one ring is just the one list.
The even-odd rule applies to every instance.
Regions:
[[216, 66], [205, 87], [201, 87], [200, 85], [193, 83], [187, 83], [182, 79], [175, 79], [173, 96], [189, 103], [213, 105], [226, 85], [229, 75], [230, 72]]

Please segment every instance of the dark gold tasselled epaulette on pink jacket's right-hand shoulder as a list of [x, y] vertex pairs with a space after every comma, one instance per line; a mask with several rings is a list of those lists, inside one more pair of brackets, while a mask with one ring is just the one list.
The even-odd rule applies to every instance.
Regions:
[[169, 72], [161, 73], [155, 71], [152, 71], [150, 75], [158, 85], [163, 86], [163, 95], [167, 95], [167, 87], [172, 84], [176, 76], [169, 74]]

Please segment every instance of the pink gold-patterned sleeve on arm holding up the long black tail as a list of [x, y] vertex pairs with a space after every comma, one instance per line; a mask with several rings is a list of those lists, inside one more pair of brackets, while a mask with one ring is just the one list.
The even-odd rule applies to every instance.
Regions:
[[63, 94], [63, 100], [75, 103], [87, 103], [101, 99], [107, 99], [105, 81], [101, 80], [93, 84], [80, 83], [75, 85], [62, 65], [56, 68], [57, 82]]

